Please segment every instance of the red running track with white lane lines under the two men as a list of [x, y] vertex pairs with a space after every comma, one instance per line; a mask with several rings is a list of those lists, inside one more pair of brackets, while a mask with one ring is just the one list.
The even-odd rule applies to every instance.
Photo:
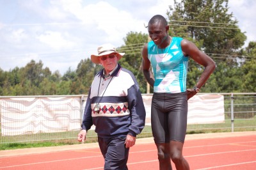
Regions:
[[[11, 151], [11, 150], [10, 150]], [[1, 151], [0, 151], [1, 153]], [[0, 154], [1, 155], [1, 154]], [[2, 154], [3, 155], [3, 154]], [[190, 169], [256, 169], [256, 132], [250, 135], [189, 139], [184, 157]], [[1, 156], [0, 169], [103, 169], [99, 147]], [[139, 143], [129, 153], [129, 169], [159, 169], [154, 143]], [[172, 164], [175, 169], [174, 164]]]

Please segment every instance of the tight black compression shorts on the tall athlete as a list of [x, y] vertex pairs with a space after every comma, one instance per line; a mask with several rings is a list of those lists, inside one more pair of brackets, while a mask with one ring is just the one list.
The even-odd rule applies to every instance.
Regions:
[[151, 105], [155, 143], [184, 143], [188, 116], [187, 93], [154, 93]]

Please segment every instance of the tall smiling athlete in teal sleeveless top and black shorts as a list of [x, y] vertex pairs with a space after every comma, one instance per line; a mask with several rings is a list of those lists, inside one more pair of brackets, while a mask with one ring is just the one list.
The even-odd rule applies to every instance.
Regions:
[[[159, 169], [189, 169], [182, 155], [186, 135], [188, 99], [196, 95], [214, 71], [215, 63], [196, 45], [180, 37], [168, 35], [168, 22], [155, 15], [148, 22], [152, 41], [142, 50], [143, 73], [154, 87], [151, 123], [157, 147]], [[186, 88], [188, 59], [204, 66], [204, 72], [193, 88]], [[150, 70], [152, 70], [154, 74]]]

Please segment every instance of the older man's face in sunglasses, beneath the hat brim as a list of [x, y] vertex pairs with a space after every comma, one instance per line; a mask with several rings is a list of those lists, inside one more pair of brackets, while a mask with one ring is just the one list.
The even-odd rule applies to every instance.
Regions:
[[117, 59], [116, 53], [111, 53], [106, 56], [100, 56], [100, 64], [104, 67], [106, 74], [111, 72], [117, 65], [118, 59]]

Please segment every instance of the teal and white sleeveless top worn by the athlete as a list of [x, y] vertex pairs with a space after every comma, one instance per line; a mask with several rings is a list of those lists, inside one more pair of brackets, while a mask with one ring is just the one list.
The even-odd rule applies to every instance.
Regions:
[[180, 93], [186, 91], [188, 57], [184, 56], [180, 46], [182, 38], [173, 37], [165, 49], [148, 42], [148, 59], [154, 77], [154, 93]]

